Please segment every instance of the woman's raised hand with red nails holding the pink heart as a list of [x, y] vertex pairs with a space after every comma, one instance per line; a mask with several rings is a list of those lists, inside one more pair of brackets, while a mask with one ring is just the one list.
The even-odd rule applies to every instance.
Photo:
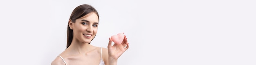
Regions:
[[112, 39], [108, 42], [108, 58], [109, 61], [117, 61], [117, 59], [129, 48], [129, 43], [126, 36], [121, 44], [115, 43], [112, 45]]

